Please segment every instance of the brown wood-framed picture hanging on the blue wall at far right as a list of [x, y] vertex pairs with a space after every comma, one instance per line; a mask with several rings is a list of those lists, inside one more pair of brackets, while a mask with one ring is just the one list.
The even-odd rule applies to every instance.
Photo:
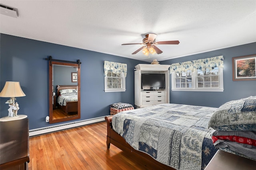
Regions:
[[232, 58], [233, 81], [256, 80], [256, 54]]

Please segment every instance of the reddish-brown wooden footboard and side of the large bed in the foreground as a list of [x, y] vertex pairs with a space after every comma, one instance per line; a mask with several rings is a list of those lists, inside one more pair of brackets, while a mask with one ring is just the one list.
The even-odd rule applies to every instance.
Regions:
[[150, 155], [133, 149], [122, 136], [116, 133], [112, 129], [112, 117], [113, 116], [106, 116], [105, 120], [107, 121], [107, 149], [110, 149], [110, 143], [119, 149], [123, 150], [124, 152], [131, 152], [132, 155], [136, 156], [142, 164], [148, 169], [157, 169], [157, 170], [175, 170], [174, 168], [162, 164], [152, 158]]

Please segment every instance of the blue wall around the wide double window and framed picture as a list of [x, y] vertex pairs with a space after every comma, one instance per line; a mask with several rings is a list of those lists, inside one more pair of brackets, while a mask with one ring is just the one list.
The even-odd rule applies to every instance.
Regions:
[[[160, 64], [173, 64], [220, 55], [224, 57], [223, 92], [181, 92], [170, 90], [170, 103], [219, 107], [230, 100], [256, 96], [256, 80], [232, 80], [232, 57], [254, 54], [256, 54], [256, 42], [160, 62]], [[171, 84], [172, 80], [170, 80]]]

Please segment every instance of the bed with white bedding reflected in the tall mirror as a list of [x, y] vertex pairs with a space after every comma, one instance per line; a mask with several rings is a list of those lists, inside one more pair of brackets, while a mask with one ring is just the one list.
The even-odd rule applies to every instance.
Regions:
[[[57, 86], [57, 105], [58, 108], [62, 109], [65, 114], [70, 112], [78, 112], [78, 95], [77, 86], [72, 85], [58, 85]], [[66, 90], [66, 92], [63, 92]]]

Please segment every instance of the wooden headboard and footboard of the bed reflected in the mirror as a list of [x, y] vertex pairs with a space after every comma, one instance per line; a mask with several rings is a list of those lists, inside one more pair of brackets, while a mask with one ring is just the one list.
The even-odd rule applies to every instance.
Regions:
[[[63, 89], [77, 89], [77, 86], [75, 85], [58, 85], [59, 87], [57, 89], [57, 97], [60, 96], [60, 90]], [[78, 112], [78, 102], [77, 101], [72, 101], [72, 102], [67, 102], [66, 106], [60, 106], [57, 102], [58, 108], [62, 109], [65, 114], [68, 114], [68, 112]]]

